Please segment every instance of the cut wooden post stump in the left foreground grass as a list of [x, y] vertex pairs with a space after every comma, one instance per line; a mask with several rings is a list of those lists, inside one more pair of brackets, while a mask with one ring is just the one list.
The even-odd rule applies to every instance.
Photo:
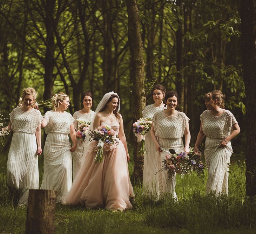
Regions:
[[56, 191], [30, 189], [25, 233], [54, 233], [55, 207]]

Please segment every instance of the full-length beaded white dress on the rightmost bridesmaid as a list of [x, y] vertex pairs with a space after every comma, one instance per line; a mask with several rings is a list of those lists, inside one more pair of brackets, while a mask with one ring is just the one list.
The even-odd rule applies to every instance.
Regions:
[[208, 166], [206, 192], [228, 194], [228, 163], [233, 152], [230, 141], [226, 147], [218, 147], [230, 135], [232, 126], [237, 123], [234, 115], [225, 110], [221, 116], [214, 116], [210, 110], [201, 115], [202, 130], [206, 135], [204, 156]]

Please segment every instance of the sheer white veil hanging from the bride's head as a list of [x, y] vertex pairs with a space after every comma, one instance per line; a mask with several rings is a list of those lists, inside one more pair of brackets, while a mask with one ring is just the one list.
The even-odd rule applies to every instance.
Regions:
[[[91, 122], [90, 127], [89, 127], [89, 130], [93, 130], [94, 129], [93, 123], [94, 123], [94, 119], [95, 119], [97, 113], [99, 113], [100, 110], [107, 104], [108, 99], [110, 98], [110, 96], [112, 94], [117, 95], [116, 92], [113, 92], [113, 91], [108, 92], [107, 94], [105, 94], [103, 96], [103, 98], [101, 99], [101, 101], [97, 105], [97, 108], [96, 108], [95, 113], [94, 113], [94, 117], [93, 117], [92, 122]], [[119, 111], [120, 110], [120, 98], [119, 98], [118, 95], [117, 95], [117, 97], [119, 99], [119, 106], [118, 106], [118, 110], [117, 111]], [[87, 134], [86, 137], [85, 137], [85, 140], [83, 141], [83, 144], [82, 144], [82, 146], [83, 146], [83, 157], [82, 158], [83, 159], [85, 158], [85, 156], [86, 156], [86, 154], [88, 152], [88, 145], [89, 145], [89, 143], [90, 143], [90, 136]]]

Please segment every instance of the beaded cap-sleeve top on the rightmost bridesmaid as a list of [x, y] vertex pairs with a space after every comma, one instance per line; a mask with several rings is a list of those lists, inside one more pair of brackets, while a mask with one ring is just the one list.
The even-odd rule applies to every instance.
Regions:
[[214, 116], [210, 110], [205, 110], [200, 115], [203, 133], [210, 138], [226, 138], [232, 131], [232, 126], [237, 123], [234, 115], [229, 111], [220, 116]]

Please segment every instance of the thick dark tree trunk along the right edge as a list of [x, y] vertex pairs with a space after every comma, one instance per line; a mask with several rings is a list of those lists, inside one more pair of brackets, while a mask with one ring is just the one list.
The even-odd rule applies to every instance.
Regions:
[[246, 95], [246, 195], [256, 195], [256, 2], [241, 1], [242, 62]]

